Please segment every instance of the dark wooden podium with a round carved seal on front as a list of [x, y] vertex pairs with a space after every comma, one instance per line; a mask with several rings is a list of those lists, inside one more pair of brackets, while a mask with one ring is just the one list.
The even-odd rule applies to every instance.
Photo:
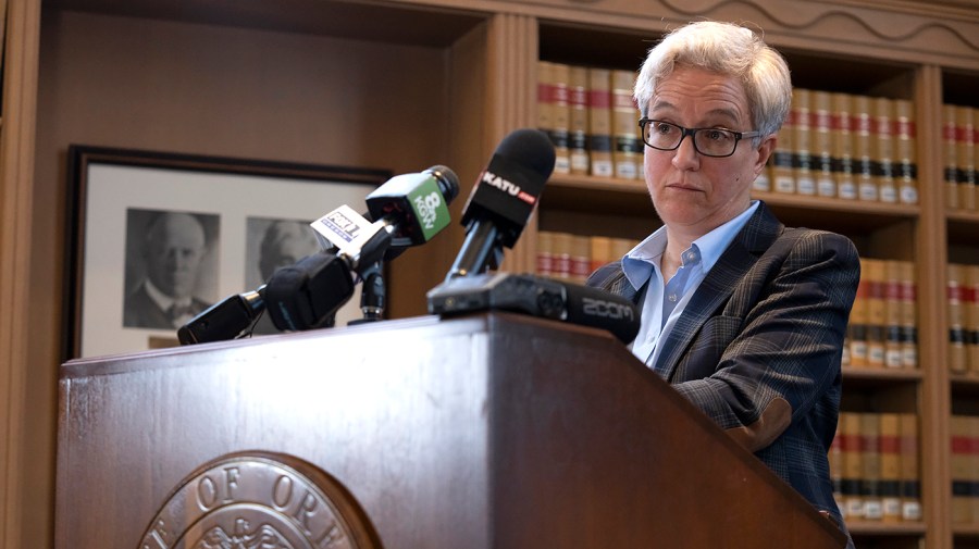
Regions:
[[512, 314], [70, 361], [58, 445], [59, 549], [845, 545], [610, 335]]

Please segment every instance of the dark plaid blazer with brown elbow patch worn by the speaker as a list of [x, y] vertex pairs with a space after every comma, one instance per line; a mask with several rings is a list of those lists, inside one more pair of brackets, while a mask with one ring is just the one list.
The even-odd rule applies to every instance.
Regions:
[[[847, 238], [786, 228], [763, 202], [696, 289], [652, 367], [831, 515], [827, 452], [840, 361], [860, 276]], [[636, 301], [620, 262], [588, 285]]]

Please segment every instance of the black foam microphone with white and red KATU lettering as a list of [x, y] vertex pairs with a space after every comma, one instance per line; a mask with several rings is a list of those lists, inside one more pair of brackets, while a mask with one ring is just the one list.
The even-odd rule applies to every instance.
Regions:
[[517, 129], [496, 147], [462, 213], [466, 240], [448, 278], [498, 266], [503, 247], [512, 248], [554, 171], [554, 145], [538, 129]]

